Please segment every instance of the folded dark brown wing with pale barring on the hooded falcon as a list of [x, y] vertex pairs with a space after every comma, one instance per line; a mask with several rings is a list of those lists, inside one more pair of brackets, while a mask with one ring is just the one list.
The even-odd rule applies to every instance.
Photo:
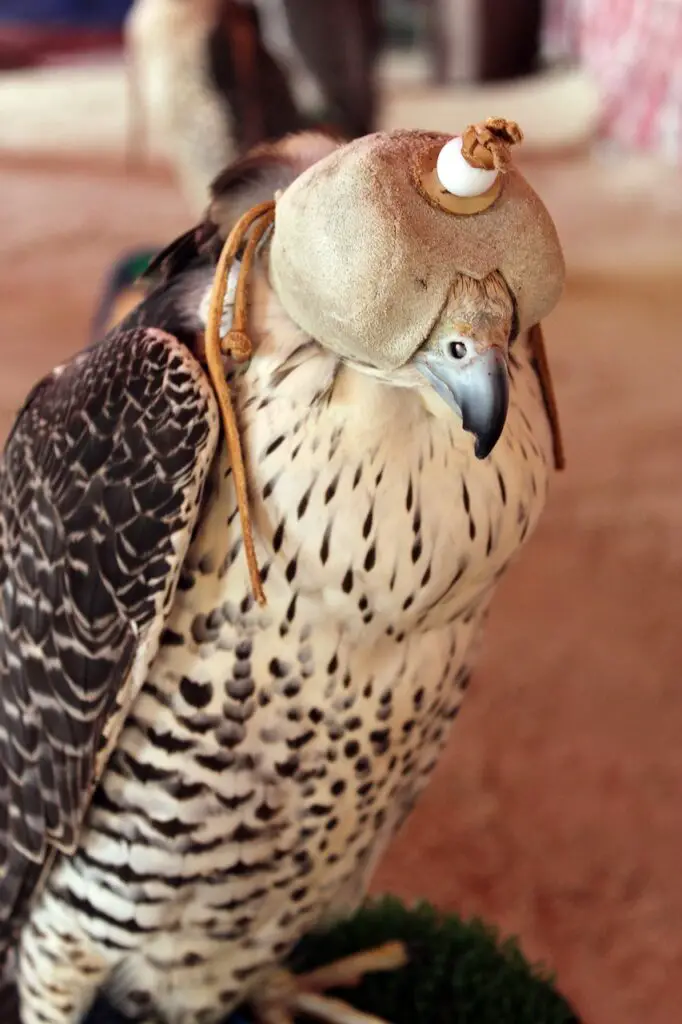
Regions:
[[218, 438], [175, 338], [110, 334], [34, 388], [0, 464], [0, 963], [72, 852], [158, 648]]

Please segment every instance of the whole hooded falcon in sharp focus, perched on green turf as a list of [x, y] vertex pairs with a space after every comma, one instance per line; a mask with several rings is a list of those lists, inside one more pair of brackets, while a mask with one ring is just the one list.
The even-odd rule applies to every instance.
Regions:
[[[0, 953], [22, 1024], [361, 1018], [283, 970], [427, 782], [562, 453], [520, 131], [215, 181], [0, 464]], [[360, 958], [361, 959], [361, 958]], [[7, 1014], [3, 1020], [8, 1019]]]

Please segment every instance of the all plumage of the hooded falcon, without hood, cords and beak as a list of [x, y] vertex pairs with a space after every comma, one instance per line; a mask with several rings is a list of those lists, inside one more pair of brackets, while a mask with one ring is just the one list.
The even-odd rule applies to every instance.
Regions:
[[226, 364], [255, 604], [208, 295], [240, 213], [332, 145], [287, 139], [227, 171], [141, 305], [37, 385], [7, 441], [0, 945], [18, 940], [23, 1024], [78, 1024], [99, 989], [135, 1020], [212, 1024], [354, 908], [545, 505], [551, 429], [500, 274], [460, 275], [443, 312], [507, 353], [509, 412], [480, 460], [416, 366], [363, 366], [296, 327], [263, 254], [254, 357]]

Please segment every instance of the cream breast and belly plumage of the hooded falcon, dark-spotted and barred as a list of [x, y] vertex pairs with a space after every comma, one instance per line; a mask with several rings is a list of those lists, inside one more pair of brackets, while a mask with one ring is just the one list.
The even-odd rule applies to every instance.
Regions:
[[162, 647], [34, 927], [84, 930], [127, 1009], [217, 1020], [361, 896], [433, 768], [495, 583], [542, 511], [525, 342], [485, 462], [457, 419], [267, 338], [239, 386], [254, 604], [224, 453]]

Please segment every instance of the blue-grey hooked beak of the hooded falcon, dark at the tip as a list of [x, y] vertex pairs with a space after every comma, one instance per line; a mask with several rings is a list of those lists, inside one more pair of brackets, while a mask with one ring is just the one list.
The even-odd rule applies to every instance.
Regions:
[[501, 348], [477, 352], [470, 341], [419, 352], [417, 369], [440, 397], [462, 417], [476, 438], [476, 458], [486, 459], [500, 440], [509, 410], [509, 371]]

